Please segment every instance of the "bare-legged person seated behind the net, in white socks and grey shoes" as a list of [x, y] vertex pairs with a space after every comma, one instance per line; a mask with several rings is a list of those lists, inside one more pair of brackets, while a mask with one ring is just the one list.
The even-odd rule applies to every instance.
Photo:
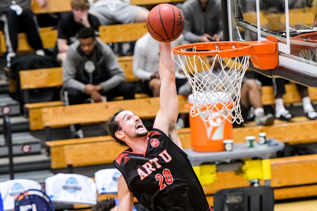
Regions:
[[[214, 62], [215, 56], [208, 56], [208, 61], [210, 65]], [[214, 69], [212, 70], [213, 74], [210, 74], [209, 79], [211, 81], [214, 81], [214, 83], [211, 84], [212, 87], [215, 86], [215, 84], [223, 84], [226, 87], [230, 87], [228, 84], [228, 80], [225, 80], [225, 82], [222, 82], [225, 75], [221, 73], [222, 69], [220, 66], [220, 63], [218, 61], [214, 62]], [[234, 77], [236, 76], [233, 74], [233, 69], [225, 69], [227, 71], [227, 74], [231, 78], [231, 80], [234, 80]], [[217, 79], [218, 76], [218, 79]], [[228, 76], [226, 76], [228, 77]], [[221, 89], [225, 89], [225, 87], [221, 87]], [[229, 88], [230, 89], [230, 88]], [[232, 93], [234, 92], [231, 90]], [[233, 93], [234, 94], [234, 93]], [[243, 76], [243, 82], [241, 85], [241, 98], [240, 98], [240, 108], [241, 108], [241, 115], [244, 120], [244, 122], [247, 121], [247, 118], [249, 116], [249, 112], [251, 107], [254, 108], [254, 121], [256, 122], [256, 125], [273, 125], [274, 123], [274, 116], [273, 114], [267, 114], [265, 115], [263, 105], [262, 105], [262, 88], [261, 88], [261, 82], [254, 79], [248, 79], [247, 77]]]

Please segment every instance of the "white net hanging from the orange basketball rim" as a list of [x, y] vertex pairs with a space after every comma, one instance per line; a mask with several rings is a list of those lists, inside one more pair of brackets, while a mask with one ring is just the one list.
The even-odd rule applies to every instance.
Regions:
[[[235, 46], [232, 48], [235, 49]], [[219, 47], [216, 47], [216, 50], [219, 50]], [[193, 48], [193, 51], [196, 51], [196, 48]], [[191, 116], [200, 115], [204, 121], [215, 124], [226, 119], [231, 123], [243, 122], [240, 109], [241, 84], [249, 67], [249, 57], [232, 57], [224, 62], [216, 54], [209, 63], [199, 55], [178, 54], [178, 61], [175, 62], [184, 71], [193, 90]]]

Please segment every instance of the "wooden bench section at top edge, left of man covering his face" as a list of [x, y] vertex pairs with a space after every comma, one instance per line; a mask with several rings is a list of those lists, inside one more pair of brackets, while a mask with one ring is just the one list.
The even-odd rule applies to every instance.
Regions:
[[36, 0], [32, 0], [32, 10], [35, 14], [67, 12], [72, 9], [70, 2], [71, 0], [47, 0], [45, 8], [40, 8]]

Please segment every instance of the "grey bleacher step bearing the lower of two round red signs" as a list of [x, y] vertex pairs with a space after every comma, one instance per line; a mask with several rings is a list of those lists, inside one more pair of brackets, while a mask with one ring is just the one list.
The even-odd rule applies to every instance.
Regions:
[[[12, 133], [13, 155], [28, 155], [41, 153], [41, 140], [29, 132]], [[8, 147], [5, 145], [4, 135], [0, 135], [0, 157], [8, 156]]]

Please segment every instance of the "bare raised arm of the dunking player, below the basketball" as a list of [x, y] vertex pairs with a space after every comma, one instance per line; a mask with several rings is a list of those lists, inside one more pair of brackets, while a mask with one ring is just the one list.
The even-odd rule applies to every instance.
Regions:
[[160, 43], [159, 75], [161, 79], [160, 110], [153, 127], [169, 135], [171, 140], [181, 147], [175, 128], [178, 117], [178, 98], [175, 85], [175, 62], [171, 56], [170, 42]]

